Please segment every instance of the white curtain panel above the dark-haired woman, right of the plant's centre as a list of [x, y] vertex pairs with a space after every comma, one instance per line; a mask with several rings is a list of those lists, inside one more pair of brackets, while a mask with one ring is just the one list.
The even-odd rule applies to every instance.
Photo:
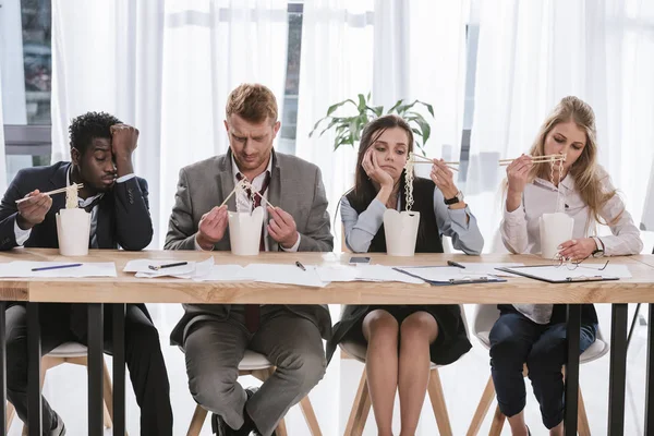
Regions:
[[[399, 99], [417, 106], [432, 126], [429, 157], [459, 160], [465, 85], [465, 24], [469, 1], [376, 0], [375, 105], [389, 109]], [[428, 166], [419, 166], [427, 177]]]

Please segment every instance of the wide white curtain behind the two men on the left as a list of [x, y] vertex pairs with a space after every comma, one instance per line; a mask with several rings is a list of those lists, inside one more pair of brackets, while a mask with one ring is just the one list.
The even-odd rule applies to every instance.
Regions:
[[52, 20], [52, 160], [69, 159], [68, 125], [85, 111], [138, 128], [135, 169], [161, 247], [180, 168], [227, 150], [229, 92], [263, 83], [281, 113], [287, 2], [55, 0]]

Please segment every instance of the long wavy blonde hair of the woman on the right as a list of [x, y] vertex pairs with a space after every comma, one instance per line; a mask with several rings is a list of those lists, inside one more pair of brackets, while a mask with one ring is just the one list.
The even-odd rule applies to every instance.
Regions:
[[[529, 154], [533, 157], [545, 156], [545, 138], [556, 124], [568, 121], [574, 121], [574, 124], [586, 134], [586, 144], [577, 161], [570, 167], [568, 173], [574, 178], [579, 195], [590, 208], [589, 220], [592, 218], [598, 223], [606, 225], [607, 222], [603, 222], [600, 216], [600, 210], [606, 202], [617, 194], [617, 191], [604, 191], [601, 187], [601, 180], [606, 174], [602, 174], [604, 171], [600, 171], [600, 166], [597, 165], [595, 112], [593, 112], [593, 108], [589, 104], [574, 96], [562, 98], [543, 125], [541, 125], [538, 135]], [[535, 178], [547, 180], [549, 179], [549, 162], [534, 164], [529, 173], [529, 182], [532, 182]], [[617, 221], [621, 215], [622, 213], [618, 214], [614, 221]]]

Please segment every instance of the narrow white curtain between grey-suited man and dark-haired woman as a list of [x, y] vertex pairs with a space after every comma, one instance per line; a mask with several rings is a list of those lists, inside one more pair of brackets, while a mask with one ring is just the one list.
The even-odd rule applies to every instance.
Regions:
[[[335, 223], [335, 249], [341, 246], [336, 208], [353, 186], [356, 150], [349, 145], [334, 150], [332, 132], [308, 137], [315, 122], [337, 101], [355, 98], [373, 86], [373, 1], [317, 0], [304, 4], [302, 58], [295, 155], [318, 165]], [[343, 109], [337, 114], [352, 114]]]

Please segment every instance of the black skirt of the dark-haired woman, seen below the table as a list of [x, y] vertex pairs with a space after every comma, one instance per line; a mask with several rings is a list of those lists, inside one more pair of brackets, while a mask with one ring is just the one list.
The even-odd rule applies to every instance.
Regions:
[[456, 362], [472, 348], [465, 332], [463, 319], [461, 318], [461, 310], [457, 304], [347, 305], [343, 310], [341, 320], [334, 326], [331, 339], [327, 341], [327, 362], [331, 360], [336, 347], [342, 341], [354, 341], [364, 346], [366, 344], [362, 330], [363, 319], [368, 313], [378, 308], [390, 313], [400, 324], [415, 312], [422, 311], [431, 314], [438, 324], [438, 337], [429, 346], [429, 358], [437, 365], [447, 365]]

